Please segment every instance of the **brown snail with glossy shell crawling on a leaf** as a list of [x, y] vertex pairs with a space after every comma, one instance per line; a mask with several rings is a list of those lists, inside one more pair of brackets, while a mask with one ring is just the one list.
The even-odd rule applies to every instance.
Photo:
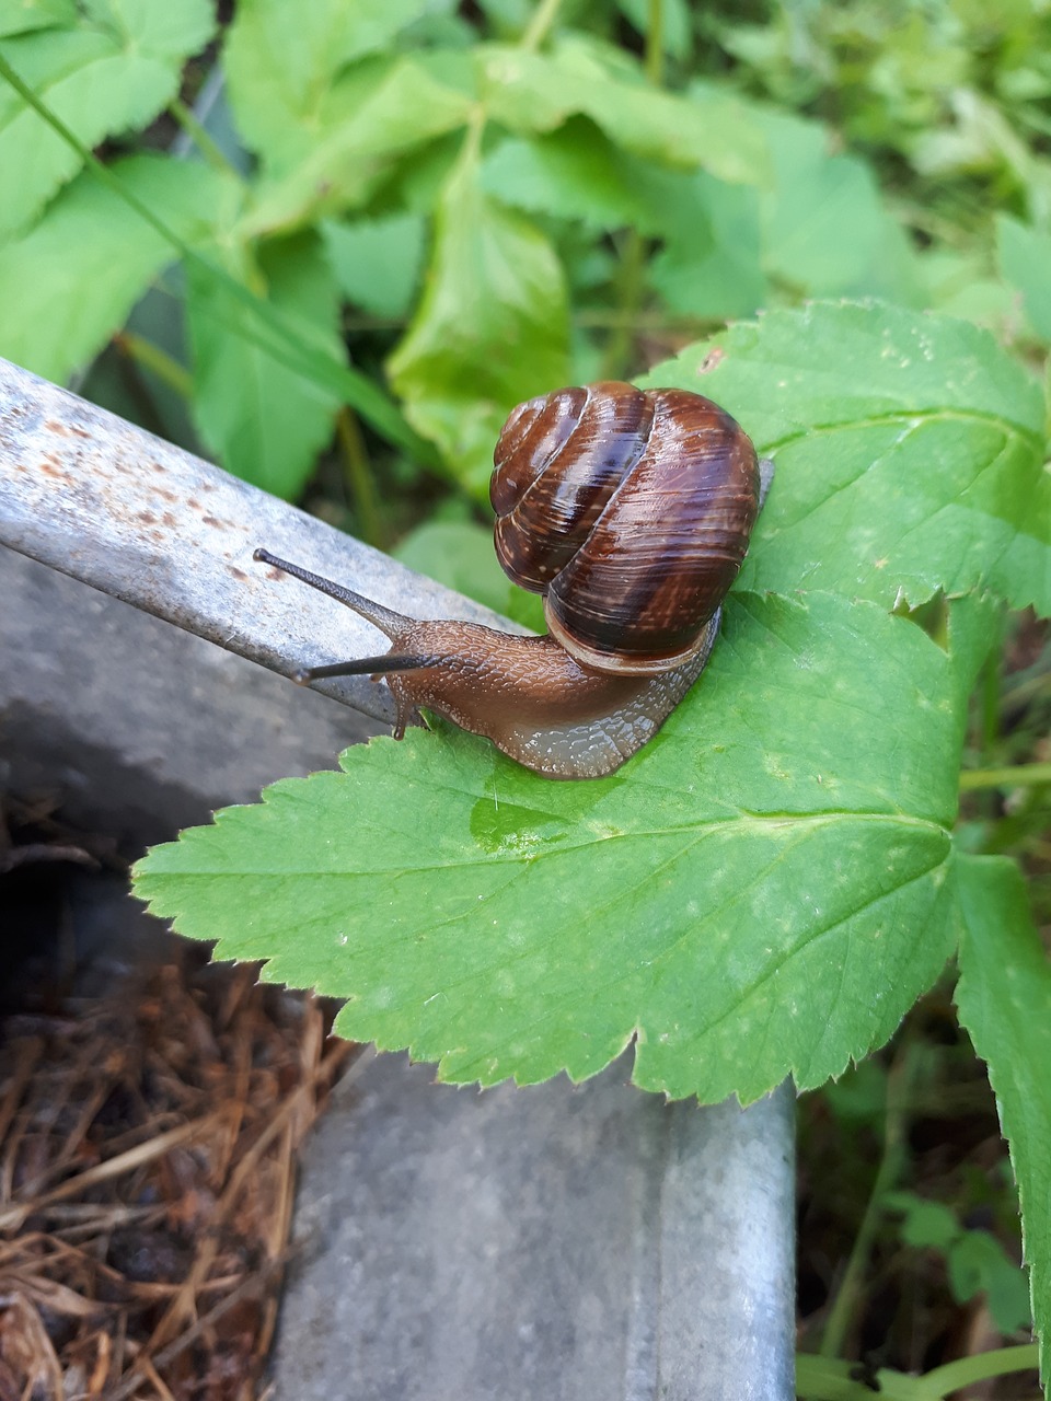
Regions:
[[256, 549], [353, 608], [384, 656], [310, 667], [388, 678], [394, 736], [426, 708], [549, 778], [601, 778], [652, 738], [701, 674], [774, 464], [685, 389], [605, 381], [520, 403], [489, 495], [506, 573], [544, 594], [549, 635], [418, 621]]

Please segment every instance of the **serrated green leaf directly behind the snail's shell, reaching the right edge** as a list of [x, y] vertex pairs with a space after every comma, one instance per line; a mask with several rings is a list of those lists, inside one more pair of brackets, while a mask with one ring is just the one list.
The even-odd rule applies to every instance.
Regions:
[[746, 587], [886, 605], [987, 587], [1051, 612], [1043, 395], [987, 331], [816, 304], [733, 326], [642, 382], [709, 395], [775, 458]]

